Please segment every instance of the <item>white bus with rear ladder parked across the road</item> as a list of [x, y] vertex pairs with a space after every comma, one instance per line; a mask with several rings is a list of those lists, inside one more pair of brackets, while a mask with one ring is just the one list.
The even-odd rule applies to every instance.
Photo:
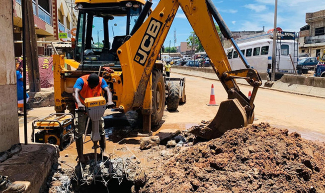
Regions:
[[[294, 54], [295, 51], [297, 52], [297, 50], [295, 50], [297, 43], [295, 43], [295, 40], [281, 40], [281, 43], [280, 40], [276, 41], [278, 47], [276, 49], [276, 73], [294, 73], [290, 55], [293, 61], [298, 60], [297, 54]], [[252, 68], [258, 72], [270, 73], [272, 71], [273, 39], [266, 38], [240, 43], [238, 47], [243, 52], [248, 64]], [[233, 47], [226, 49], [226, 53], [232, 70], [243, 69], [244, 64]]]

